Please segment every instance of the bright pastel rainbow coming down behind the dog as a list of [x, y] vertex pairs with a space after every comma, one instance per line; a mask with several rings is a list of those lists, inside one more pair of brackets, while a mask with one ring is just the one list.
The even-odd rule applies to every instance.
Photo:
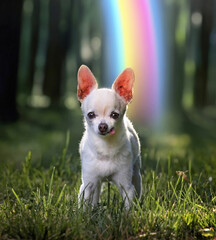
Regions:
[[165, 105], [166, 46], [162, 1], [101, 0], [105, 79], [126, 67], [136, 77], [130, 117], [157, 123]]

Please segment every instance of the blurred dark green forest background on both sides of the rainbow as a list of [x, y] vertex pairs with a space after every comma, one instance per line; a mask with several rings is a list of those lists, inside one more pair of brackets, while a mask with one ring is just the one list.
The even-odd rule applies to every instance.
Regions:
[[[167, 121], [176, 123], [167, 130], [182, 133], [183, 144], [214, 142], [216, 1], [163, 2], [172, 58]], [[77, 155], [76, 73], [86, 64], [102, 81], [105, 68], [100, 0], [1, 0], [0, 36], [0, 161], [18, 163], [29, 150], [36, 161], [50, 159], [67, 130]]]

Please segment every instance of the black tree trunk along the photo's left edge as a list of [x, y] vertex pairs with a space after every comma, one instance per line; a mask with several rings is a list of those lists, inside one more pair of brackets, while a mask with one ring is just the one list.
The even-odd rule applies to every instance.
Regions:
[[21, 18], [21, 0], [0, 1], [0, 121], [18, 118], [16, 90]]

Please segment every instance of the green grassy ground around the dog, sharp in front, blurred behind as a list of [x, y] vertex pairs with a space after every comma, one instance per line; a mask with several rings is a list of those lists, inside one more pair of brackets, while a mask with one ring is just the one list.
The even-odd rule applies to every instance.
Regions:
[[140, 129], [141, 200], [125, 211], [105, 184], [100, 205], [83, 212], [79, 111], [29, 109], [0, 130], [0, 239], [216, 238], [216, 144], [203, 131], [146, 138]]

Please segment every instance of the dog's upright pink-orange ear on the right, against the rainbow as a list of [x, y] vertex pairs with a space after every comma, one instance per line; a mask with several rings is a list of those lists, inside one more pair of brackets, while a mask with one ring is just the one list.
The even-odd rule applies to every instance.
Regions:
[[135, 77], [131, 68], [126, 68], [112, 85], [114, 89], [125, 101], [129, 103], [133, 98], [133, 83]]

